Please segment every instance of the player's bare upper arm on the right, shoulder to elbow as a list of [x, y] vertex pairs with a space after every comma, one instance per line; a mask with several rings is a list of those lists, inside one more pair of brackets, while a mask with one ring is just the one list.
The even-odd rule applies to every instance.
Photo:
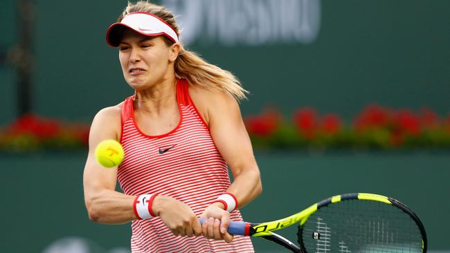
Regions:
[[259, 174], [239, 104], [224, 91], [195, 91], [197, 109], [209, 126], [211, 137], [236, 177], [244, 169]]

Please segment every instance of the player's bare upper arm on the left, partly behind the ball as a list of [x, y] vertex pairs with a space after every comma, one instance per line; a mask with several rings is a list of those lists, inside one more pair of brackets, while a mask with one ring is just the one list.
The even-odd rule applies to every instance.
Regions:
[[119, 140], [120, 127], [119, 106], [102, 109], [93, 119], [89, 132], [89, 153], [83, 175], [84, 198], [87, 203], [102, 190], [116, 189], [117, 167], [106, 169], [98, 164], [95, 150], [102, 140]]

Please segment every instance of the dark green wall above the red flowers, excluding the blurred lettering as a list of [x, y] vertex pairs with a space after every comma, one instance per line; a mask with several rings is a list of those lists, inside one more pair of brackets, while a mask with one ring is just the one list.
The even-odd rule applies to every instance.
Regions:
[[[35, 0], [34, 107], [41, 115], [89, 122], [99, 109], [132, 90], [105, 31], [126, 1]], [[2, 4], [0, 48], [15, 32], [16, 3]], [[370, 102], [440, 114], [450, 108], [450, 1], [321, 1], [321, 27], [312, 44], [227, 47], [193, 44], [208, 61], [237, 75], [251, 91], [244, 114], [276, 104], [347, 118]], [[0, 124], [15, 115], [15, 74], [0, 67]]]

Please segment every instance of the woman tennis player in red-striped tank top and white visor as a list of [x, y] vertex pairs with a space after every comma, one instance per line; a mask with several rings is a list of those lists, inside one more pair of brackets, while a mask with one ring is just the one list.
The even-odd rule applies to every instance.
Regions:
[[[134, 95], [93, 119], [84, 169], [91, 221], [132, 221], [132, 252], [253, 252], [226, 232], [262, 191], [237, 100], [246, 91], [228, 71], [185, 48], [172, 13], [128, 3], [107, 30]], [[105, 169], [94, 150], [120, 141], [121, 165]], [[233, 184], [228, 176], [233, 174]], [[116, 181], [124, 193], [116, 191]], [[208, 218], [201, 225], [198, 218]]]

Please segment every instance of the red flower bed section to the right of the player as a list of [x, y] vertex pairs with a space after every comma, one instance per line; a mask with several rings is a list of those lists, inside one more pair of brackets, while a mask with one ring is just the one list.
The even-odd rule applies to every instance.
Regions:
[[[276, 117], [269, 117], [276, 115]], [[244, 118], [255, 147], [450, 147], [450, 115], [440, 118], [431, 109], [417, 113], [377, 104], [366, 106], [344, 124], [339, 115], [298, 109], [291, 121], [271, 111]]]

